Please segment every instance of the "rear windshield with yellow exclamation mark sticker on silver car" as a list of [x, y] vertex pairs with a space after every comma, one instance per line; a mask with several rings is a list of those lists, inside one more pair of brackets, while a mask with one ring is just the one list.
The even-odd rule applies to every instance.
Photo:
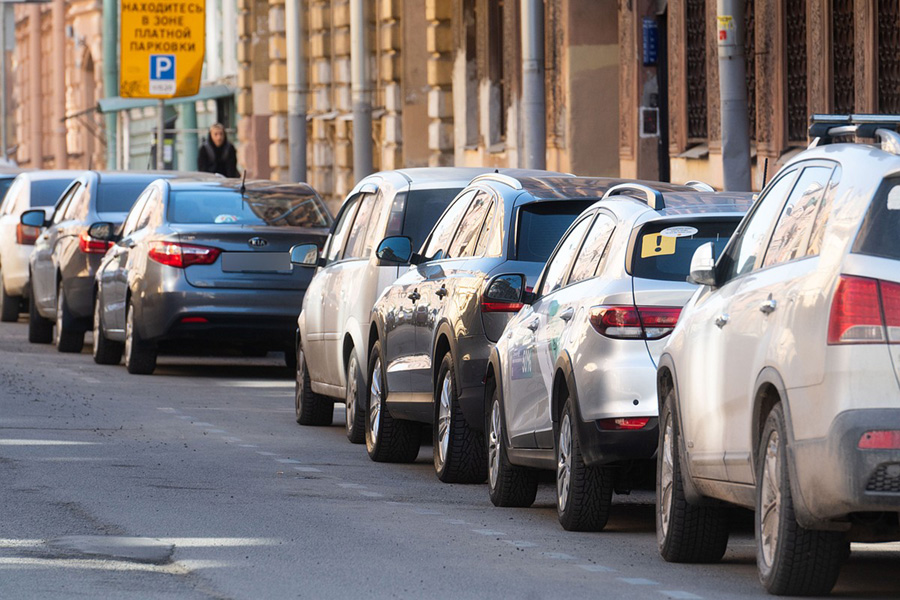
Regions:
[[637, 232], [631, 274], [644, 279], [687, 281], [694, 250], [713, 242], [718, 258], [738, 223], [740, 219], [648, 223]]

